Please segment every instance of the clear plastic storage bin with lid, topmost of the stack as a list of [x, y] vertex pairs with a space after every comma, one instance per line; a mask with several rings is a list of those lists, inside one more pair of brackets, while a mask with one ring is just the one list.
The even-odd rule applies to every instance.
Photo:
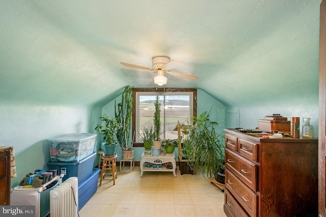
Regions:
[[51, 162], [78, 162], [93, 153], [96, 134], [72, 133], [47, 139]]

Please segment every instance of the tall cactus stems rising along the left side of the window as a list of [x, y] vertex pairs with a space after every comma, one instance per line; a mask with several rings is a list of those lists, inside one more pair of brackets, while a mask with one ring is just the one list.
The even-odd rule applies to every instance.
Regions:
[[124, 150], [128, 149], [130, 137], [130, 124], [133, 104], [132, 88], [133, 86], [126, 86], [122, 94], [121, 103], [118, 103], [118, 105], [116, 105], [115, 102], [116, 118], [118, 119], [118, 122], [122, 125], [122, 128], [118, 129], [116, 135], [121, 148]]

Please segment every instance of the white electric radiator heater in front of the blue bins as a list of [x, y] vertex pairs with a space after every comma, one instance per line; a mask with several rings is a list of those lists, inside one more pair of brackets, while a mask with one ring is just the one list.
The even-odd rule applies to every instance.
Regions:
[[78, 178], [70, 177], [50, 191], [51, 217], [78, 216]]

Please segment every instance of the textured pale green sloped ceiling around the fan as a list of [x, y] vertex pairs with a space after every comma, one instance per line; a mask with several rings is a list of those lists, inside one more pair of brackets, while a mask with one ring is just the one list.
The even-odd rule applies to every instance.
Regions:
[[[1, 102], [88, 104], [155, 87], [154, 56], [184, 63], [166, 87], [226, 106], [318, 95], [320, 0], [3, 1]], [[253, 97], [254, 96], [254, 97]]]

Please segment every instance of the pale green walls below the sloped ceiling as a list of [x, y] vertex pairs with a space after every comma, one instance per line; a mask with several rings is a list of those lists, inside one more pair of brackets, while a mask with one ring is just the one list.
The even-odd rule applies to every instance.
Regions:
[[[121, 101], [123, 88], [107, 96], [102, 101], [88, 106], [45, 106], [30, 104], [0, 104], [0, 144], [13, 146], [16, 158], [17, 177], [12, 178], [12, 187], [35, 169], [46, 169], [50, 160], [47, 138], [58, 137], [69, 133], [95, 133], [94, 128], [100, 123], [102, 113], [114, 115], [114, 100]], [[219, 120], [219, 130], [224, 128], [242, 127], [255, 128], [258, 119], [269, 113], [281, 113], [288, 119], [291, 116], [301, 118], [311, 117], [314, 127], [314, 137], [318, 137], [318, 96], [304, 99], [289, 99], [275, 104], [254, 102], [251, 106], [225, 108], [218, 100], [205, 91], [198, 89], [198, 113], [208, 111], [212, 105], [219, 108], [216, 119]], [[251, 98], [254, 96], [248, 96]], [[213, 107], [216, 108], [216, 107]], [[213, 117], [215, 111], [211, 112]], [[226, 121], [224, 121], [227, 118]], [[101, 135], [97, 136], [94, 151], [99, 150]], [[134, 150], [135, 161], [140, 161], [143, 147]], [[121, 159], [121, 148], [118, 147], [118, 161]], [[98, 163], [98, 155], [94, 166]]]

